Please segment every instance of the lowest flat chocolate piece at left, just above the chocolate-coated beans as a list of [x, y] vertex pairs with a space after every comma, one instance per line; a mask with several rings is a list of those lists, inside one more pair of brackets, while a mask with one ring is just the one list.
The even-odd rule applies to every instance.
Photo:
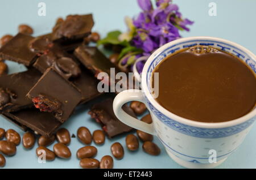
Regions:
[[40, 112], [35, 108], [22, 109], [18, 112], [5, 113], [5, 115], [47, 137], [51, 136], [61, 126], [61, 122], [57, 121], [51, 113]]

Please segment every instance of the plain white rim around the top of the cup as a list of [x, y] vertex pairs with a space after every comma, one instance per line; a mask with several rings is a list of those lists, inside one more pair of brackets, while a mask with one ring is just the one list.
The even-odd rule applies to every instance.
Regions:
[[159, 112], [163, 113], [164, 115], [166, 115], [167, 117], [174, 119], [177, 122], [183, 123], [185, 125], [188, 126], [193, 126], [193, 127], [200, 127], [200, 128], [225, 128], [225, 127], [230, 127], [230, 126], [236, 126], [239, 125], [240, 123], [246, 122], [247, 120], [253, 118], [256, 115], [256, 108], [254, 108], [253, 110], [251, 110], [251, 112], [247, 113], [246, 115], [243, 115], [240, 118], [237, 119], [233, 119], [231, 121], [226, 121], [226, 122], [212, 122], [212, 123], [208, 123], [208, 122], [198, 122], [198, 121], [192, 121], [190, 119], [187, 118], [183, 118], [180, 117], [179, 115], [176, 115], [174, 113], [171, 113], [170, 111], [168, 111], [167, 109], [163, 108], [163, 106], [161, 106], [154, 98], [151, 97], [151, 93], [149, 91], [149, 89], [147, 88], [147, 69], [150, 66], [152, 60], [159, 55], [160, 53], [163, 52], [164, 49], [178, 44], [180, 42], [184, 42], [184, 41], [190, 41], [190, 40], [212, 40], [212, 41], [220, 41], [220, 42], [224, 42], [226, 44], [230, 44], [232, 46], [235, 46], [236, 48], [241, 49], [243, 52], [245, 52], [247, 55], [249, 55], [249, 57], [251, 59], [253, 59], [254, 62], [256, 62], [256, 55], [254, 55], [252, 52], [250, 52], [250, 50], [244, 48], [243, 46], [237, 44], [236, 42], [232, 42], [229, 40], [225, 40], [223, 38], [218, 38], [218, 37], [209, 37], [209, 36], [193, 36], [193, 37], [183, 37], [183, 38], [179, 38], [177, 40], [168, 42], [167, 44], [161, 46], [160, 48], [158, 48], [157, 50], [155, 50], [154, 53], [152, 53], [150, 55], [150, 57], [147, 59], [143, 70], [142, 70], [142, 89], [144, 92], [144, 95], [146, 96], [146, 98], [148, 99], [148, 101], [150, 101], [150, 103], [157, 109], [159, 110]]

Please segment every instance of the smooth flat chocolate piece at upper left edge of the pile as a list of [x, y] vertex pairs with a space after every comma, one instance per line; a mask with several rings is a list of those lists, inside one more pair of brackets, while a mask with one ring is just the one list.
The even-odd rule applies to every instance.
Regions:
[[36, 53], [28, 48], [34, 37], [18, 33], [0, 49], [0, 58], [30, 66], [36, 59]]

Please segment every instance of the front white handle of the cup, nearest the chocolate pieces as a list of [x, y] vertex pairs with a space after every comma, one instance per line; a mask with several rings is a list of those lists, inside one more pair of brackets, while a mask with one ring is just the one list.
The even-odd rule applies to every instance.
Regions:
[[127, 114], [122, 109], [123, 104], [129, 101], [140, 101], [147, 106], [142, 91], [137, 89], [137, 91], [135, 92], [134, 90], [135, 89], [128, 89], [122, 91], [121, 93], [118, 93], [118, 95], [115, 96], [113, 102], [114, 113], [117, 116], [117, 118], [126, 125], [131, 126], [137, 130], [147, 132], [148, 134], [156, 135], [153, 123], [148, 124], [146, 122], [139, 121], [138, 119], [131, 117], [131, 115]]

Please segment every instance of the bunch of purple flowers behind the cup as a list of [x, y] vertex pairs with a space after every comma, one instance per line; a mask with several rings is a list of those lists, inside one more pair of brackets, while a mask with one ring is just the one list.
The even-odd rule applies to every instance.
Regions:
[[[172, 4], [171, 0], [156, 0], [153, 8], [151, 0], [137, 0], [139, 7], [143, 10], [133, 19], [135, 27], [133, 37], [129, 41], [132, 46], [142, 49], [143, 53], [126, 54], [120, 60], [120, 66], [130, 66], [130, 62], [136, 61], [138, 57], [151, 55], [160, 46], [167, 42], [180, 38], [179, 29], [189, 31], [187, 25], [193, 24], [189, 19], [183, 19], [179, 7]], [[138, 56], [138, 57], [137, 57]], [[137, 63], [138, 72], [142, 71], [144, 61]]]

